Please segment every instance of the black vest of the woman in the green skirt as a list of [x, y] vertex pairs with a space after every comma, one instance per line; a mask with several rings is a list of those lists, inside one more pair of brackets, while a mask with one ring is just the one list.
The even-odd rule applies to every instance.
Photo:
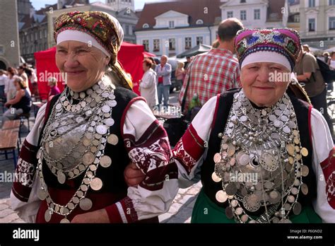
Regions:
[[[214, 182], [211, 178], [215, 167], [213, 157], [216, 153], [220, 152], [221, 139], [218, 137], [218, 134], [222, 133], [225, 129], [225, 124], [228, 120], [230, 108], [233, 105], [233, 95], [239, 91], [240, 89], [231, 89], [220, 95], [216, 119], [213, 119], [214, 125], [208, 141], [208, 153], [206, 160], [204, 160], [204, 163], [201, 166], [201, 182], [205, 194], [215, 204], [224, 208], [229, 205], [228, 201], [225, 201], [224, 203], [219, 203], [216, 201], [216, 192], [222, 190], [222, 184], [221, 182]], [[308, 156], [302, 156], [302, 162], [304, 165], [307, 165], [308, 168], [310, 168], [310, 172], [307, 177], [302, 177], [302, 181], [308, 186], [309, 191], [307, 195], [304, 195], [300, 192], [298, 198], [298, 201], [303, 206], [305, 204], [311, 204], [312, 199], [317, 196], [316, 177], [312, 169], [312, 144], [310, 142], [310, 133], [307, 120], [309, 105], [307, 105], [306, 102], [295, 98], [295, 96], [290, 93], [290, 91], [287, 91], [287, 93], [293, 104], [295, 115], [297, 116], [301, 146], [307, 148], [308, 150]], [[259, 209], [259, 211], [261, 211], [261, 209]], [[259, 211], [255, 212], [254, 214], [258, 214]]]

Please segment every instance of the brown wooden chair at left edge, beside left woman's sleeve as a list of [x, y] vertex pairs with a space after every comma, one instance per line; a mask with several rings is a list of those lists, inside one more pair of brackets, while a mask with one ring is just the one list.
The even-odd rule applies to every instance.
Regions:
[[18, 131], [11, 130], [0, 130], [0, 152], [4, 152], [6, 160], [8, 160], [8, 151], [13, 153], [14, 167], [16, 168], [17, 157], [16, 148], [18, 148]]

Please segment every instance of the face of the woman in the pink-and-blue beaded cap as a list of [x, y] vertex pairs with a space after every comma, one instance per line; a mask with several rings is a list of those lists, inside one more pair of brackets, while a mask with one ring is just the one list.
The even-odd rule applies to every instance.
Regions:
[[290, 81], [290, 70], [272, 62], [248, 64], [241, 69], [245, 95], [259, 107], [271, 107], [284, 95]]

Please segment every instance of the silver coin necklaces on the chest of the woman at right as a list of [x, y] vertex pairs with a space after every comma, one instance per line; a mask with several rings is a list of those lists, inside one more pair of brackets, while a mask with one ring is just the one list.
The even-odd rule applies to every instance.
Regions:
[[[214, 156], [214, 182], [222, 182], [217, 201], [228, 200], [228, 218], [237, 223], [290, 223], [288, 213], [298, 215], [300, 191], [308, 187], [297, 118], [287, 94], [274, 106], [257, 109], [243, 90], [235, 93], [225, 125], [221, 151]], [[250, 213], [264, 211], [258, 218]]]

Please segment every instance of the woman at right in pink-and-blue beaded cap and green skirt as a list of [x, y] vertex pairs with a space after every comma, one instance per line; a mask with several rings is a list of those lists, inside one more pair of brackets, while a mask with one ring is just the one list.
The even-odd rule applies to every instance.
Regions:
[[172, 151], [181, 186], [201, 176], [192, 222], [334, 223], [331, 134], [290, 84], [298, 33], [241, 30], [235, 47], [242, 89], [208, 100]]

